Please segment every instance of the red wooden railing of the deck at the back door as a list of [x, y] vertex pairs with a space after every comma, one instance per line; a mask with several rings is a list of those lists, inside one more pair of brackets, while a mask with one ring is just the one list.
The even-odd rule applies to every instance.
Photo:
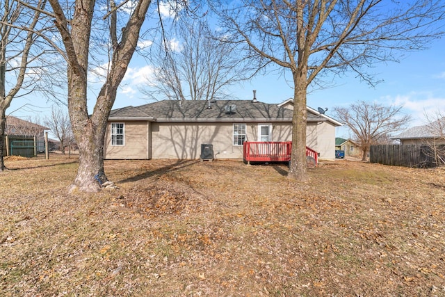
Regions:
[[[287, 162], [291, 161], [292, 142], [260, 142], [245, 141], [243, 143], [243, 157], [247, 162]], [[310, 156], [318, 164], [318, 153], [306, 147], [306, 156]]]

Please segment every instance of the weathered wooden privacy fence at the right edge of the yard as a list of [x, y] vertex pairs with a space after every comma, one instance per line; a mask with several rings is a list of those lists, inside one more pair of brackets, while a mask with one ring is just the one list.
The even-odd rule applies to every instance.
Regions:
[[445, 145], [371, 145], [369, 161], [391, 166], [435, 167], [445, 160], [443, 152]]

